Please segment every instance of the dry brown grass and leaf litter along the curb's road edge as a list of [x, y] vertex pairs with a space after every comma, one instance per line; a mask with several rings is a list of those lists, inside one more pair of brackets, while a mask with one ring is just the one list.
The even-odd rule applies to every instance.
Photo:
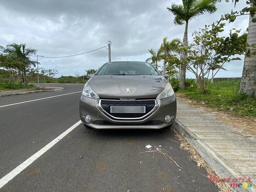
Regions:
[[[192, 160], [192, 161], [195, 161], [197, 166], [198, 166], [198, 169], [204, 167], [207, 171], [208, 174], [211, 174], [211, 175], [217, 175], [216, 172], [214, 172], [212, 170], [212, 168], [204, 161], [204, 159], [198, 155], [198, 153], [196, 152], [196, 150], [188, 143], [187, 140], [185, 140], [181, 134], [176, 131], [176, 129], [172, 129], [176, 135], [175, 137], [180, 140], [180, 148], [185, 150], [185, 151], [188, 151], [188, 153], [190, 153], [190, 158], [189, 158], [189, 161]], [[205, 176], [205, 175], [204, 175]], [[214, 182], [215, 185], [218, 186], [218, 188], [220, 189], [220, 192], [232, 192], [229, 188], [228, 188], [228, 185], [226, 183], [217, 183], [217, 182]]]

